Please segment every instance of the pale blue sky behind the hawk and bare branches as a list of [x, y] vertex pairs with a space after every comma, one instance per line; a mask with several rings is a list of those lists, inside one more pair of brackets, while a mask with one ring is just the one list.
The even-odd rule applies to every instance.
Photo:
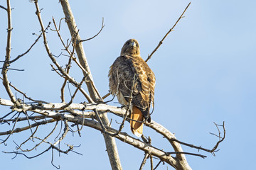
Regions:
[[[108, 91], [107, 73], [110, 65], [119, 56], [122, 45], [129, 38], [136, 38], [144, 59], [156, 47], [159, 40], [174, 25], [189, 1], [70, 1], [75, 21], [82, 39], [90, 38], [100, 30], [102, 17], [105, 28], [93, 40], [84, 42], [85, 53], [92, 76], [100, 94]], [[1, 1], [0, 5], [6, 6]], [[32, 33], [39, 33], [33, 3], [11, 1], [13, 27], [11, 57], [25, 52], [36, 39]], [[39, 1], [44, 25], [63, 18], [58, 1]], [[192, 169], [252, 169], [256, 147], [255, 101], [256, 101], [256, 1], [192, 1], [191, 6], [178, 23], [174, 32], [164, 40], [155, 52], [149, 67], [156, 75], [155, 109], [152, 119], [174, 132], [178, 140], [211, 149], [218, 140], [209, 132], [217, 132], [215, 123], [225, 121], [226, 139], [220, 144], [216, 156], [206, 152], [206, 159], [187, 156]], [[0, 60], [4, 60], [6, 47], [6, 12], [0, 8]], [[51, 25], [53, 28], [53, 24]], [[67, 26], [62, 23], [63, 39], [70, 38]], [[48, 43], [55, 55], [59, 55], [60, 40], [55, 32], [49, 31]], [[58, 58], [65, 64], [67, 57]], [[60, 102], [60, 86], [63, 80], [50, 71], [50, 59], [40, 40], [33, 50], [15, 62], [11, 67], [25, 69], [24, 72], [9, 71], [9, 80], [18, 89], [32, 98]], [[70, 74], [82, 79], [82, 72], [73, 66]], [[71, 87], [71, 90], [74, 90]], [[21, 96], [17, 94], [19, 98]], [[8, 98], [3, 86], [0, 97]], [[69, 98], [69, 95], [66, 95]], [[81, 95], [75, 102], [85, 101]], [[115, 102], [117, 100], [115, 99]], [[117, 105], [116, 103], [110, 103]], [[0, 106], [0, 115], [9, 109]], [[1, 116], [0, 116], [1, 117]], [[109, 114], [114, 120], [120, 118]], [[117, 125], [114, 125], [117, 127]], [[11, 127], [1, 128], [9, 130]], [[52, 125], [45, 125], [41, 132], [50, 132]], [[129, 132], [126, 124], [125, 131]], [[168, 142], [149, 128], [144, 133], [150, 136], [155, 147], [170, 150]], [[131, 134], [131, 132], [129, 132]], [[12, 151], [14, 142], [23, 142], [29, 132], [11, 135], [8, 146], [0, 145], [1, 151]], [[0, 139], [4, 139], [1, 137]], [[52, 138], [54, 140], [54, 137]], [[55, 153], [54, 164], [61, 169], [110, 169], [102, 135], [97, 130], [84, 127], [82, 137], [70, 133], [66, 143], [80, 145], [68, 155]], [[26, 145], [31, 147], [32, 145]], [[28, 154], [33, 156], [38, 152]], [[117, 140], [119, 156], [124, 169], [139, 169], [144, 153]], [[185, 152], [196, 152], [183, 146]], [[1, 167], [7, 169], [55, 169], [51, 164], [51, 152], [35, 159], [0, 153]], [[154, 161], [157, 164], [158, 160]], [[161, 165], [159, 169], [166, 169]], [[149, 169], [149, 162], [145, 169]], [[171, 169], [169, 166], [168, 169]]]

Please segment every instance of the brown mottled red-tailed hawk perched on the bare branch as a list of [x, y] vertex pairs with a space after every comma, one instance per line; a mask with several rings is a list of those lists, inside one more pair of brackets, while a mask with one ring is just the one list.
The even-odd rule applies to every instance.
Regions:
[[128, 106], [132, 92], [131, 130], [134, 135], [141, 137], [143, 121], [147, 120], [149, 123], [151, 121], [149, 110], [151, 103], [154, 104], [156, 79], [148, 64], [140, 56], [137, 40], [130, 39], [124, 43], [121, 55], [110, 67], [108, 76], [110, 93], [117, 96], [119, 103]]

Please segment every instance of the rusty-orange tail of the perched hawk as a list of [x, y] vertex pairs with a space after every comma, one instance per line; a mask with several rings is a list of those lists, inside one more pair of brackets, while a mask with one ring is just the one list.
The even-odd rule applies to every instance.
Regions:
[[[131, 114], [131, 119], [130, 120], [130, 125], [131, 125], [131, 130], [134, 135], [137, 137], [141, 137], [143, 133], [143, 123], [139, 123], [137, 121], [143, 121], [144, 116], [142, 114], [142, 111], [139, 110], [136, 106], [132, 107], [132, 114]], [[133, 121], [137, 120], [137, 121]]]

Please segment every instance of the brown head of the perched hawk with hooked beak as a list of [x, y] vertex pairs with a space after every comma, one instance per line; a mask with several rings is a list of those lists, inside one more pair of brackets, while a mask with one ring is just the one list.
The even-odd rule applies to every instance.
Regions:
[[139, 42], [135, 39], [129, 39], [124, 43], [121, 55], [140, 55]]

